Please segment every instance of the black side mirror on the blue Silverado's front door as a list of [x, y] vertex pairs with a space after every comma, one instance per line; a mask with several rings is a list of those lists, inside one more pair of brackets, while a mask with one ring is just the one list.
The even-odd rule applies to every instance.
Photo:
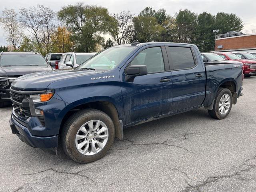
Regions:
[[146, 65], [130, 65], [125, 72], [127, 74], [125, 77], [126, 81], [133, 80], [136, 76], [148, 74]]

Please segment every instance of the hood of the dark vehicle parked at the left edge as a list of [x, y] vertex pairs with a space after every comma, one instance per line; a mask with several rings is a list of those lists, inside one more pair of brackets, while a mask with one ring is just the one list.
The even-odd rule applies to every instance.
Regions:
[[41, 71], [52, 71], [52, 67], [40, 67], [40, 66], [11, 66], [11, 67], [4, 67], [0, 66], [0, 76], [22, 76], [34, 72], [41, 72]]

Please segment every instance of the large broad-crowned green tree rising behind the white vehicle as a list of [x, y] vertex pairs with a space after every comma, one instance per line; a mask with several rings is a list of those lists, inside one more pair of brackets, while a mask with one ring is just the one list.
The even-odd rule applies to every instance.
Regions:
[[58, 18], [70, 28], [76, 51], [81, 52], [96, 51], [104, 42], [100, 34], [110, 32], [116, 25], [106, 8], [84, 6], [82, 3], [64, 6], [58, 12]]

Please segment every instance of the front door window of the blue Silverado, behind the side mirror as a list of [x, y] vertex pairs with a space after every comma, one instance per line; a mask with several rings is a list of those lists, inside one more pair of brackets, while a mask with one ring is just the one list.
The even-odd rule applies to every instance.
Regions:
[[131, 62], [131, 65], [146, 65], [148, 73], [164, 71], [164, 60], [161, 47], [146, 48]]

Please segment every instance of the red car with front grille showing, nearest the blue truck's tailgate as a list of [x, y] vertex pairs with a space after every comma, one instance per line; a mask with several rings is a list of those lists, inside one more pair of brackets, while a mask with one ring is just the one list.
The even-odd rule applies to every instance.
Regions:
[[252, 76], [256, 74], [256, 60], [249, 60], [249, 59], [241, 59], [240, 57], [236, 56], [232, 53], [216, 53], [225, 60], [236, 60], [240, 61], [244, 64], [244, 75], [245, 76]]

